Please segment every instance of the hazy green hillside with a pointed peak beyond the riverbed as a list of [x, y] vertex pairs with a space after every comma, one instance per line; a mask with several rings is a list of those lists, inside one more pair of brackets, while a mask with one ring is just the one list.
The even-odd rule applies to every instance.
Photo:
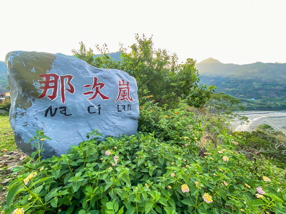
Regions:
[[246, 110], [286, 109], [286, 63], [235, 65], [209, 58], [197, 63], [196, 68], [202, 83], [239, 98]]

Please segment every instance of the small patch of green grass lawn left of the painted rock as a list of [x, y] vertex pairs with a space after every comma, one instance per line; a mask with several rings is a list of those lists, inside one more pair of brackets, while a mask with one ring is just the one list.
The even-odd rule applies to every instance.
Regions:
[[14, 140], [14, 134], [9, 123], [9, 116], [0, 116], [0, 156], [6, 152], [14, 151], [17, 148]]

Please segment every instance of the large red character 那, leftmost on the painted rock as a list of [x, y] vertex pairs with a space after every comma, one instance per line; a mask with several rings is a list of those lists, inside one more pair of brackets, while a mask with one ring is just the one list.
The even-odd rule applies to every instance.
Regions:
[[[64, 103], [65, 100], [65, 79], [67, 79], [67, 85], [70, 87], [66, 89], [68, 92], [73, 94], [75, 92], [74, 86], [70, 83], [73, 79], [73, 75], [67, 74], [64, 76], [59, 76], [58, 74], [40, 74], [40, 77], [45, 78], [45, 80], [39, 81], [40, 84], [44, 84], [44, 86], [39, 87], [39, 89], [43, 89], [43, 93], [38, 97], [39, 99], [47, 96], [51, 101], [53, 101], [58, 96], [58, 80], [60, 79], [61, 84], [61, 101]], [[54, 79], [51, 79], [54, 78]], [[52, 89], [52, 94], [47, 95], [48, 89]]]

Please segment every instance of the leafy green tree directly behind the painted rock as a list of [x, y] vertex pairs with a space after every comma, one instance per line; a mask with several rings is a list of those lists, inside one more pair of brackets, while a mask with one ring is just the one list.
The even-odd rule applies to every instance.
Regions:
[[114, 68], [127, 72], [135, 77], [138, 84], [138, 95], [149, 91], [153, 95], [154, 103], [176, 105], [181, 100], [186, 100], [188, 105], [201, 107], [210, 98], [214, 86], [207, 87], [199, 84], [200, 78], [195, 68], [196, 61], [187, 59], [184, 64], [178, 63], [175, 53], [170, 54], [166, 49], [155, 49], [151, 38], [144, 35], [135, 36], [136, 42], [127, 49], [120, 44], [120, 60], [115, 61], [110, 57], [107, 45], [96, 45], [101, 52], [100, 57], [95, 57], [93, 50], [87, 50], [80, 42], [79, 50], [72, 50], [78, 58], [85, 60], [98, 68]]

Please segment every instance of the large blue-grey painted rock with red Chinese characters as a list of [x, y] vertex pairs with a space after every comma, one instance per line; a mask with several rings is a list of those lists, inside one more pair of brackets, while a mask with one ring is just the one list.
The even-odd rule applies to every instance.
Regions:
[[19, 149], [36, 130], [43, 157], [65, 154], [97, 129], [103, 137], [137, 133], [139, 104], [134, 77], [124, 71], [95, 68], [85, 61], [50, 53], [10, 52], [6, 56], [11, 93], [10, 124]]

